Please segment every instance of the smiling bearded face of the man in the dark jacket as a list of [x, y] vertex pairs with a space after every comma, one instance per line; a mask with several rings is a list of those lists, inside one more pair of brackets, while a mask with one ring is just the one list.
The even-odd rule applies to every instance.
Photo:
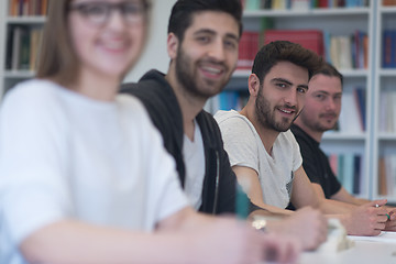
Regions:
[[202, 11], [194, 14], [182, 43], [169, 37], [177, 43], [170, 58], [183, 89], [204, 99], [219, 94], [237, 65], [238, 22], [224, 12]]

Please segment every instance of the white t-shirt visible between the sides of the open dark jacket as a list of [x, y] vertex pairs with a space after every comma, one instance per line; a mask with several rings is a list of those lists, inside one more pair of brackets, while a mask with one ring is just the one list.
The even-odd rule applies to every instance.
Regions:
[[186, 164], [185, 194], [190, 205], [199, 210], [202, 204], [202, 186], [205, 178], [204, 141], [199, 124], [195, 121], [194, 141], [185, 134], [183, 156]]

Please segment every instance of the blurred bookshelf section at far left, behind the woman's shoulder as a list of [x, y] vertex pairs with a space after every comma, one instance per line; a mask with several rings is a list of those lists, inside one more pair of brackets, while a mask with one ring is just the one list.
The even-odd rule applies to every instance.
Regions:
[[47, 0], [0, 2], [0, 99], [16, 82], [32, 78], [45, 23]]

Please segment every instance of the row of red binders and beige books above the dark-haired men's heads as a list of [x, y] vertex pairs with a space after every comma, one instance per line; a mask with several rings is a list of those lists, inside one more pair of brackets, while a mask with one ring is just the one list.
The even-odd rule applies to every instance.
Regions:
[[356, 30], [351, 35], [331, 35], [320, 30], [265, 30], [262, 33], [243, 32], [237, 68], [250, 69], [260, 46], [272, 41], [298, 43], [341, 70], [362, 69], [369, 65], [369, 36], [362, 31]]

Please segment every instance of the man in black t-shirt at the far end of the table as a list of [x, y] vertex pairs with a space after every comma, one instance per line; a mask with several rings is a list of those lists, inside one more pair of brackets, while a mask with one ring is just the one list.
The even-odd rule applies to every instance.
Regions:
[[[316, 193], [327, 199], [353, 205], [364, 205], [346, 191], [337, 179], [329, 160], [320, 148], [323, 133], [334, 129], [341, 112], [343, 76], [330, 64], [324, 64], [309, 81], [305, 108], [290, 130], [295, 135], [304, 158], [302, 167]], [[386, 230], [396, 230], [395, 208], [387, 207], [389, 220]]]

